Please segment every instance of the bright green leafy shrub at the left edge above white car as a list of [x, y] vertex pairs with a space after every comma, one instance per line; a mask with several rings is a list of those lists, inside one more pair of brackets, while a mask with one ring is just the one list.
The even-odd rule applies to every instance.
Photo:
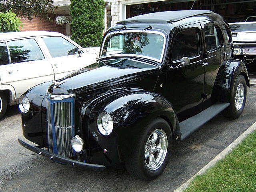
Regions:
[[22, 25], [20, 18], [11, 11], [0, 12], [0, 32], [13, 32], [19, 31]]

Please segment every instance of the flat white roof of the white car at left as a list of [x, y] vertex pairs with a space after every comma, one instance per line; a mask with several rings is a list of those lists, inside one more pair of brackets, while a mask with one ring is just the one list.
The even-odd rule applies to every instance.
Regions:
[[16, 38], [32, 37], [32, 36], [44, 36], [44, 35], [63, 35], [63, 34], [58, 32], [50, 32], [50, 31], [6, 32], [6, 33], [0, 33], [0, 41], [16, 39]]

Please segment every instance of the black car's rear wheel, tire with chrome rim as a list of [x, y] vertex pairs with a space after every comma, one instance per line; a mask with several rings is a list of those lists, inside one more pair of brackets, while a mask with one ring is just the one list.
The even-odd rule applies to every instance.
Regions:
[[222, 114], [228, 118], [238, 118], [244, 110], [246, 95], [246, 80], [244, 76], [238, 75], [232, 84], [230, 106], [222, 111]]

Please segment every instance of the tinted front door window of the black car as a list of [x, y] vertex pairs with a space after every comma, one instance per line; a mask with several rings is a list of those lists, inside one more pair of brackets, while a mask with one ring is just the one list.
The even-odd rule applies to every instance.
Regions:
[[182, 57], [192, 58], [200, 54], [199, 32], [197, 28], [190, 28], [179, 32], [172, 45], [172, 61]]

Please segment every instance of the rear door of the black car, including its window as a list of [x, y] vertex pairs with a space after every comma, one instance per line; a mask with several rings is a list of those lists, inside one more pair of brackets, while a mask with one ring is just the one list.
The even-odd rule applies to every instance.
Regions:
[[204, 104], [203, 109], [214, 104], [217, 97], [217, 87], [215, 86], [219, 68], [225, 63], [225, 47], [222, 30], [219, 22], [202, 22], [204, 34]]

